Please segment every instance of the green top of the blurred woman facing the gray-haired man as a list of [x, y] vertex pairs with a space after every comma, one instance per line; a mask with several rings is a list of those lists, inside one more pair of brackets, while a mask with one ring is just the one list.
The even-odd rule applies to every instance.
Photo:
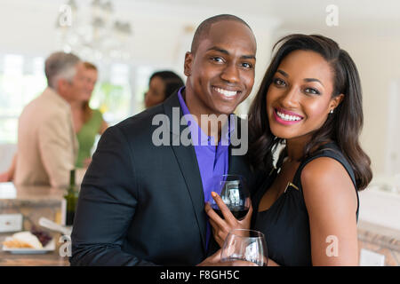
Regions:
[[76, 168], [84, 168], [84, 160], [91, 157], [94, 138], [99, 134], [103, 115], [100, 110], [93, 109], [92, 117], [84, 123], [81, 130], [76, 133], [79, 142], [79, 151], [76, 159]]

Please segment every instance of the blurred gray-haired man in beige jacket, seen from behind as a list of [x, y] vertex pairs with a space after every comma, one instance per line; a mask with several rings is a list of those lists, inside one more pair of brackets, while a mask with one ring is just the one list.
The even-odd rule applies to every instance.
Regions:
[[46, 59], [48, 86], [20, 114], [16, 185], [68, 185], [78, 147], [70, 103], [83, 90], [82, 70], [73, 54], [55, 52]]

